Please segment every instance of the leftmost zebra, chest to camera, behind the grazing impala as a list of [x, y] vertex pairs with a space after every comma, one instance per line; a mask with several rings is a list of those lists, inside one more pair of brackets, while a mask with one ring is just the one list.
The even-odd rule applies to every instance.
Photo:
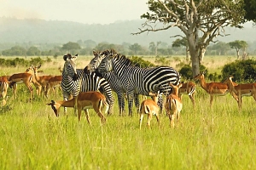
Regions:
[[[109, 83], [105, 78], [100, 77], [96, 72], [90, 72], [85, 74], [83, 69], [76, 69], [74, 60], [77, 59], [78, 54], [72, 56], [66, 54], [63, 56], [65, 64], [62, 71], [61, 89], [63, 99], [68, 100], [68, 97], [72, 94], [73, 97], [77, 97], [79, 92], [97, 91], [106, 95], [106, 99], [109, 105], [108, 115], [112, 114], [113, 107], [113, 94]], [[65, 112], [67, 110], [65, 109]]]

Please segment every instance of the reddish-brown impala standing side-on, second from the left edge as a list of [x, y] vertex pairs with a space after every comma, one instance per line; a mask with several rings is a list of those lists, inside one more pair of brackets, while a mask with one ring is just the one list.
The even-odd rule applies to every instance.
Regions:
[[26, 88], [28, 88], [30, 92], [30, 100], [33, 99], [33, 88], [32, 88], [32, 79], [33, 76], [30, 73], [17, 73], [13, 74], [9, 77], [9, 88], [14, 88], [14, 96], [15, 99], [17, 98], [17, 84], [24, 83], [26, 85]]

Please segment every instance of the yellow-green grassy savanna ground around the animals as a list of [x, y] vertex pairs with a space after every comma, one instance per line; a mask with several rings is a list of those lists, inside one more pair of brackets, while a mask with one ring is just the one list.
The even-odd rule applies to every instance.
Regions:
[[[79, 57], [84, 68], [91, 57]], [[144, 58], [154, 62], [154, 58]], [[183, 59], [183, 58], [182, 58]], [[206, 57], [210, 73], [236, 57]], [[63, 60], [53, 59], [42, 65], [44, 74], [60, 75]], [[176, 68], [177, 61], [171, 66]], [[178, 70], [179, 68], [177, 68]], [[1, 75], [25, 71], [25, 67], [1, 68]], [[216, 96], [212, 109], [209, 95], [199, 84], [196, 106], [183, 95], [183, 111], [178, 127], [172, 129], [165, 114], [160, 127], [153, 117], [146, 127], [147, 116], [139, 130], [139, 116], [119, 116], [115, 98], [113, 116], [100, 126], [100, 119], [90, 110], [91, 126], [73, 115], [56, 117], [50, 99], [61, 100], [61, 92], [49, 99], [38, 97], [28, 102], [27, 90], [18, 85], [18, 99], [9, 89], [7, 105], [0, 110], [0, 169], [255, 169], [256, 116], [255, 101], [244, 97], [241, 111], [230, 94]], [[116, 97], [116, 95], [114, 94]], [[127, 109], [126, 109], [127, 111]]]

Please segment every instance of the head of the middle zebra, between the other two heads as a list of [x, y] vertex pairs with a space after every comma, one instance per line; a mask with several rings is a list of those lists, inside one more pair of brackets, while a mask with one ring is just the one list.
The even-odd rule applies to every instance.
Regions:
[[90, 73], [91, 71], [96, 71], [96, 68], [102, 62], [102, 59], [106, 57], [105, 54], [102, 54], [100, 51], [93, 50], [94, 58], [90, 60], [89, 65], [85, 66], [84, 73]]

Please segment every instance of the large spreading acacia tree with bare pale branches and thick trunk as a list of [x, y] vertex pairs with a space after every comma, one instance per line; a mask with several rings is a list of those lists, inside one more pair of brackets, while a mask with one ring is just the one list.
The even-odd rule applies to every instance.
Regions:
[[193, 76], [200, 73], [202, 56], [213, 38], [224, 36], [225, 26], [241, 28], [245, 14], [242, 0], [148, 0], [147, 4], [149, 12], [141, 16], [146, 21], [133, 35], [179, 28], [183, 36], [176, 36], [188, 41]]

